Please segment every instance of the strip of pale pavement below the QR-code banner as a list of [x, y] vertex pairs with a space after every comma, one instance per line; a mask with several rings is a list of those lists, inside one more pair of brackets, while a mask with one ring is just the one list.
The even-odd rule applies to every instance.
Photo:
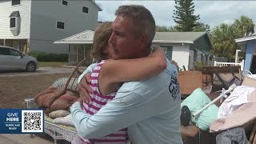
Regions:
[[30, 134], [0, 134], [0, 143], [3, 144], [53, 144], [53, 139], [45, 138], [46, 136], [34, 136], [30, 138]]

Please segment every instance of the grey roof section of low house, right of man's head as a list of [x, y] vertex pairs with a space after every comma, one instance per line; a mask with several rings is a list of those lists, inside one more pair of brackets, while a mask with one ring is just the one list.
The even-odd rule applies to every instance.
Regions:
[[194, 43], [206, 32], [156, 32], [153, 42]]

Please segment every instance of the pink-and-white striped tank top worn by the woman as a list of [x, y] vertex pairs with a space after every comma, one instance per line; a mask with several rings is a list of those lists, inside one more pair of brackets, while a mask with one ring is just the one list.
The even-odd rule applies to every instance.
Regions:
[[[98, 65], [94, 68], [91, 74], [91, 88], [94, 90], [94, 93], [91, 94], [90, 102], [83, 103], [83, 110], [86, 111], [87, 114], [94, 115], [102, 108], [102, 106], [106, 105], [106, 102], [109, 102], [111, 99], [114, 98], [116, 93], [102, 95], [99, 92], [98, 88], [98, 75], [99, 71], [102, 67], [104, 61], [98, 63]], [[114, 134], [109, 134], [104, 138], [98, 139], [82, 139], [83, 144], [126, 144], [127, 143], [127, 128], [119, 130]]]

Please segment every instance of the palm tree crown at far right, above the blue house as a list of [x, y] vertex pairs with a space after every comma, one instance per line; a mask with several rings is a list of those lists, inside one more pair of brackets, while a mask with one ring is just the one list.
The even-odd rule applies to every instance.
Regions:
[[234, 29], [238, 32], [238, 38], [254, 34], [254, 22], [251, 18], [242, 15], [234, 21]]

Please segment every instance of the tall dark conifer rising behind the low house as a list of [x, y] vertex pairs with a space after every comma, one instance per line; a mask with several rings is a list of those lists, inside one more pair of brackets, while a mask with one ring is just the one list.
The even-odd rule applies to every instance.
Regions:
[[192, 31], [195, 26], [198, 26], [198, 15], [194, 15], [193, 0], [175, 0], [174, 22], [178, 24], [180, 31]]

